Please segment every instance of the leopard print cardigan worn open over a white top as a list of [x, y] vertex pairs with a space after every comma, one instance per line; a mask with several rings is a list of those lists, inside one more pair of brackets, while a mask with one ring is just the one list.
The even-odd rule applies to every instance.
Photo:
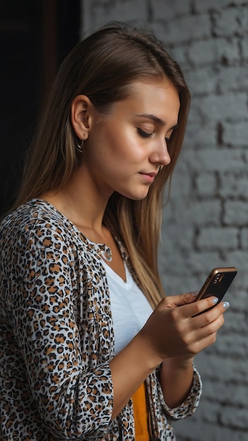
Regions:
[[[132, 399], [111, 421], [114, 335], [102, 247], [39, 199], [1, 222], [2, 441], [135, 440]], [[190, 395], [169, 409], [158, 371], [147, 378], [151, 426], [172, 441], [171, 421], [194, 413], [201, 381], [194, 369]]]

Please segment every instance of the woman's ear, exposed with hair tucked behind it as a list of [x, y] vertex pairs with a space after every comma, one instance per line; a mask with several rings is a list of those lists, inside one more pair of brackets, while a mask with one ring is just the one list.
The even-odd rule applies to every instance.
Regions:
[[92, 118], [92, 102], [86, 95], [77, 95], [70, 108], [70, 118], [79, 139], [87, 139]]

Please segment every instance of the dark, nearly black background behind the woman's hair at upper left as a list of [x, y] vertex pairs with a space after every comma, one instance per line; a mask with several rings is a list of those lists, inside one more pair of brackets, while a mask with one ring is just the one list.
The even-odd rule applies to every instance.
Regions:
[[80, 39], [80, 14], [80, 0], [0, 0], [0, 216], [58, 66]]

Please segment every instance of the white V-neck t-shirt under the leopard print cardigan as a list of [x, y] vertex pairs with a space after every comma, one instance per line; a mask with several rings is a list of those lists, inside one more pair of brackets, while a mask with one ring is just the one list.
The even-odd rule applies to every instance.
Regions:
[[124, 282], [104, 260], [103, 263], [109, 284], [116, 355], [143, 328], [153, 310], [126, 265]]

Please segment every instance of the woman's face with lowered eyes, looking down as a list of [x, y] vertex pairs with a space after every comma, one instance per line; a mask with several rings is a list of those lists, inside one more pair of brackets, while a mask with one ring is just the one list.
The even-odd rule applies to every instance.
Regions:
[[82, 173], [97, 191], [143, 199], [160, 166], [168, 166], [167, 140], [178, 123], [180, 100], [168, 80], [134, 82], [130, 95], [104, 118], [93, 111]]

